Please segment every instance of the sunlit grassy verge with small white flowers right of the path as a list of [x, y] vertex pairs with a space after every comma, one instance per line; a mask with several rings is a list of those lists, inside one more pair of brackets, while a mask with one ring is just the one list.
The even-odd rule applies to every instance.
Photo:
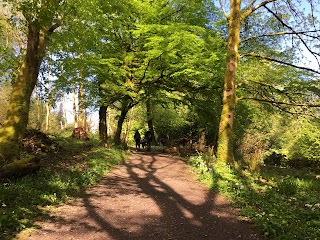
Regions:
[[320, 175], [307, 170], [263, 167], [259, 173], [208, 166], [190, 158], [199, 178], [228, 196], [268, 239], [320, 239]]

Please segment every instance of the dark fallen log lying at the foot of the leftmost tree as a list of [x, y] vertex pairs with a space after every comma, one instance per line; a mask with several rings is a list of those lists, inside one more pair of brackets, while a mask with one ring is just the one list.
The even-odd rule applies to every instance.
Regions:
[[22, 160], [16, 160], [0, 168], [0, 178], [23, 177], [40, 169], [40, 159], [31, 156]]

